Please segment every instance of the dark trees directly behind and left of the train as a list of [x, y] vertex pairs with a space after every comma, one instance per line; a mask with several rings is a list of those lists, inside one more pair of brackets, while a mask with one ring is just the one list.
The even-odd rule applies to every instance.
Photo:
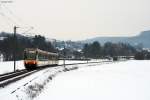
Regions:
[[[23, 51], [25, 48], [39, 48], [45, 51], [55, 52], [51, 42], [46, 41], [45, 37], [35, 35], [34, 37], [24, 37], [17, 35], [16, 59], [23, 59]], [[0, 53], [3, 54], [5, 61], [13, 60], [14, 37], [13, 34], [7, 35], [0, 40]]]

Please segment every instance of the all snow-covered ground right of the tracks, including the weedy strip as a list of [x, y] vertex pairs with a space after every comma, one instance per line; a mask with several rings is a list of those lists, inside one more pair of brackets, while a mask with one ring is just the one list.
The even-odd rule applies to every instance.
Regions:
[[150, 100], [148, 60], [68, 66], [73, 67], [78, 69], [64, 71], [58, 67], [37, 72], [1, 88], [0, 97], [2, 100]]

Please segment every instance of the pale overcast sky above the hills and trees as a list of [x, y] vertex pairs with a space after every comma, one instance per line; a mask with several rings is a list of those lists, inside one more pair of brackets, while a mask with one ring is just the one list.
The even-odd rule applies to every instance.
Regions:
[[133, 36], [150, 30], [149, 4], [150, 0], [13, 0], [1, 5], [0, 31], [11, 32], [16, 23], [61, 40]]

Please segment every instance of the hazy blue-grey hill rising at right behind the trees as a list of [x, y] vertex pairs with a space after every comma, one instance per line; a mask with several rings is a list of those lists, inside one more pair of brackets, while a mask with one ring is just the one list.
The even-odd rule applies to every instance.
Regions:
[[131, 45], [142, 45], [144, 48], [150, 48], [150, 30], [149, 31], [143, 31], [137, 36], [132, 37], [95, 37], [92, 39], [87, 39], [82, 42], [84, 43], [92, 43], [94, 41], [98, 41], [101, 44], [104, 44], [106, 42], [123, 42], [123, 43], [130, 43]]

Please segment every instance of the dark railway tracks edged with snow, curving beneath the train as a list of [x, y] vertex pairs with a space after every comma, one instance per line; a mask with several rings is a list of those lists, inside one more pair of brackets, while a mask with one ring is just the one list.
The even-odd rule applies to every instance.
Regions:
[[[67, 66], [67, 65], [78, 65], [78, 64], [89, 64], [89, 63], [100, 63], [100, 62], [71, 63], [71, 64], [65, 64], [65, 65]], [[53, 66], [53, 67], [58, 67], [58, 66], [64, 66], [64, 64], [56, 65], [56, 66]], [[16, 82], [17, 80], [20, 80], [20, 79], [22, 79], [22, 78], [24, 78], [26, 76], [29, 76], [29, 75], [31, 75], [31, 74], [33, 74], [35, 72], [38, 72], [38, 71], [40, 71], [42, 69], [49, 68], [49, 67], [50, 66], [44, 67], [44, 68], [38, 68], [38, 69], [32, 70], [32, 71], [28, 71], [26, 69], [23, 69], [23, 70], [20, 70], [20, 71], [6, 73], [6, 74], [3, 74], [3, 75], [1, 74], [0, 75], [0, 88], [5, 87], [5, 86], [7, 86], [10, 83]]]

